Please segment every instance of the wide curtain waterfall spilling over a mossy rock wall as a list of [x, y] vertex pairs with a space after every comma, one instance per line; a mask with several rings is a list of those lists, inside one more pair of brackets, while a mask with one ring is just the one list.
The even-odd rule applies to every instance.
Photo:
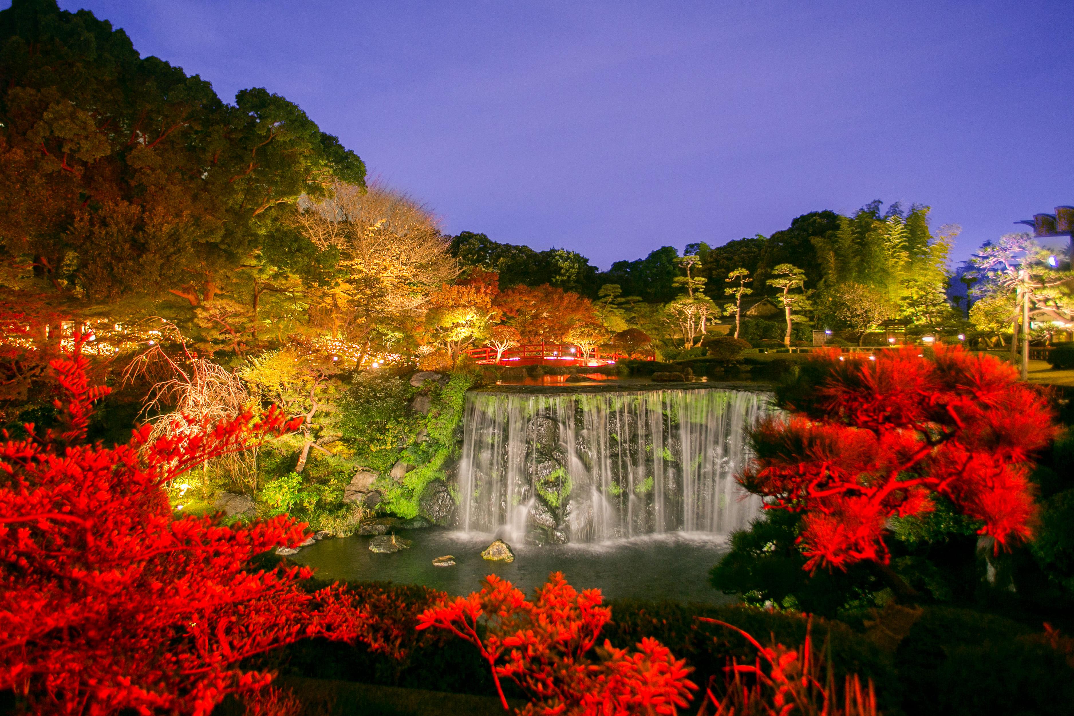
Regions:
[[467, 395], [459, 523], [513, 540], [599, 542], [745, 528], [736, 482], [770, 395], [670, 389]]

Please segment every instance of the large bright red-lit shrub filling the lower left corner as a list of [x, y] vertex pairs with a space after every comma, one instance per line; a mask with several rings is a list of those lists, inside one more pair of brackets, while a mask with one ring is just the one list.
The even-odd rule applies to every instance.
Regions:
[[[162, 485], [250, 439], [293, 428], [275, 409], [193, 425], [146, 443], [86, 444], [95, 399], [75, 351], [52, 367], [67, 395], [60, 434], [0, 443], [0, 690], [32, 713], [208, 714], [272, 674], [238, 663], [299, 638], [375, 640], [372, 620], [309, 570], [249, 572], [276, 545], [306, 539], [286, 516], [223, 526], [175, 518]], [[391, 645], [384, 648], [391, 651]]]

